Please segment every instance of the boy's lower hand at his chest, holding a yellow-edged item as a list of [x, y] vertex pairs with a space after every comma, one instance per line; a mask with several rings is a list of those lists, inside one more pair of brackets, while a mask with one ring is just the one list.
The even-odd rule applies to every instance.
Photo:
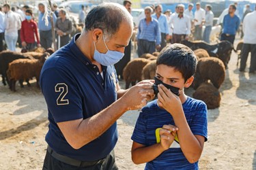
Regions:
[[160, 129], [160, 145], [164, 150], [168, 150], [173, 143], [173, 140], [177, 134], [177, 127], [171, 124], [162, 126]]

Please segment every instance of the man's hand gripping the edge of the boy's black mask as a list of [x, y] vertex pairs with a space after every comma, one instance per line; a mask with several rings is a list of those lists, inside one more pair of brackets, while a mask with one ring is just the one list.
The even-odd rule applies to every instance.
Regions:
[[126, 105], [127, 110], [141, 109], [147, 104], [147, 101], [152, 99], [154, 90], [152, 84], [136, 84], [132, 86], [121, 98], [122, 103]]

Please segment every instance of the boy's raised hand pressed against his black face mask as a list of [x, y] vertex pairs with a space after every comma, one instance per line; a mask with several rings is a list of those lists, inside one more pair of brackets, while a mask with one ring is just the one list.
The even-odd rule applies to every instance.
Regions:
[[172, 116], [182, 111], [182, 102], [180, 98], [167, 89], [162, 84], [158, 85], [158, 106], [167, 110]]

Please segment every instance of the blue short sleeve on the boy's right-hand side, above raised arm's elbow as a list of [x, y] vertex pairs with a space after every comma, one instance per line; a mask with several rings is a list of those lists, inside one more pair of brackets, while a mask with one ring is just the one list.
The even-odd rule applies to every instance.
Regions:
[[208, 116], [207, 107], [205, 103], [201, 102], [195, 116], [190, 124], [190, 129], [194, 135], [201, 135], [205, 137], [205, 141], [208, 140]]

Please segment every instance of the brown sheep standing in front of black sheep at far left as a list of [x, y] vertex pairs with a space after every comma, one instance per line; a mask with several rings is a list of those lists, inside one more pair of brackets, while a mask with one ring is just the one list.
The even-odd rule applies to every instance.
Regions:
[[39, 88], [39, 76], [46, 58], [50, 56], [48, 52], [44, 52], [39, 59], [18, 59], [9, 64], [7, 71], [8, 80], [10, 81], [10, 90], [16, 91], [15, 84], [17, 80], [29, 80], [36, 78], [36, 84]]

